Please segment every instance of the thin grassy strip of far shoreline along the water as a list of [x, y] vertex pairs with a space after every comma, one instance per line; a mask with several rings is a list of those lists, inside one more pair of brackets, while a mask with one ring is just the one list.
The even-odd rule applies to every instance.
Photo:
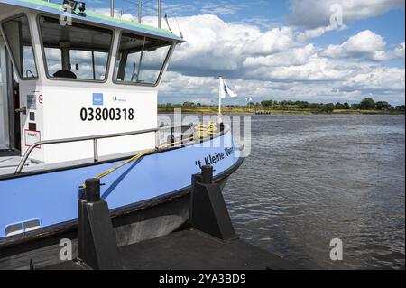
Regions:
[[[217, 114], [217, 107], [204, 108], [181, 108], [183, 114]], [[174, 108], [158, 108], [159, 114], [173, 113]], [[310, 109], [248, 109], [248, 108], [222, 108], [223, 114], [249, 114], [249, 115], [281, 115], [281, 114], [300, 114], [300, 115], [405, 115], [404, 111], [386, 111], [386, 110], [346, 110], [335, 109], [331, 113], [312, 111]]]

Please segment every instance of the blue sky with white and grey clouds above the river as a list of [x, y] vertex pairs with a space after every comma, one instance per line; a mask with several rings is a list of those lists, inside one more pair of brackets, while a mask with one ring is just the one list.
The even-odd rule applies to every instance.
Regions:
[[[143, 0], [156, 25], [155, 0]], [[110, 1], [88, 2], [107, 12]], [[137, 0], [115, 0], [137, 14]], [[217, 101], [219, 75], [239, 94], [263, 99], [405, 102], [404, 0], [162, 0], [174, 33], [160, 102]], [[176, 16], [176, 17], [175, 17]], [[166, 26], [166, 24], [165, 24]], [[180, 28], [179, 28], [180, 27]]]

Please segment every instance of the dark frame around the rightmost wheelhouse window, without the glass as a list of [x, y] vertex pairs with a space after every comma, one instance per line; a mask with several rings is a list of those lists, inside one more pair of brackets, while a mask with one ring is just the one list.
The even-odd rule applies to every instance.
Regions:
[[120, 31], [120, 36], [118, 37], [117, 53], [115, 55], [115, 64], [114, 65], [117, 64], [116, 60], [120, 56], [121, 40], [123, 38], [123, 34], [125, 34], [125, 33], [133, 34], [133, 35], [138, 36], [138, 37], [144, 37], [144, 38], [145, 37], [150, 37], [150, 38], [154, 38], [154, 39], [167, 41], [167, 42], [171, 43], [171, 47], [170, 47], [170, 49], [169, 49], [169, 51], [168, 51], [168, 53], [167, 53], [167, 55], [165, 57], [165, 60], [162, 63], [160, 74], [159, 74], [159, 76], [158, 76], [155, 83], [152, 84], [152, 83], [141, 83], [141, 82], [118, 81], [117, 79], [115, 79], [115, 66], [114, 66], [114, 70], [113, 70], [113, 83], [117, 84], [117, 85], [127, 85], [127, 86], [130, 85], [130, 86], [142, 86], [142, 87], [158, 87], [158, 85], [161, 83], [162, 75], [163, 75], [163, 72], [164, 72], [164, 67], [168, 65], [169, 60], [171, 59], [171, 55], [172, 55], [172, 53], [173, 53], [173, 51], [174, 51], [174, 49], [176, 47], [176, 43], [171, 41], [171, 40], [165, 39], [165, 38], [156, 37], [156, 36], [152, 36], [152, 35], [145, 34], [145, 33], [134, 33], [134, 31], [129, 31], [129, 30], [123, 29], [123, 30]]

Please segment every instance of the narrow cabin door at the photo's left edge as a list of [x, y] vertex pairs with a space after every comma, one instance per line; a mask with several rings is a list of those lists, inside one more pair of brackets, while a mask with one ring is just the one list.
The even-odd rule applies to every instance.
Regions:
[[15, 109], [20, 107], [18, 81], [13, 64], [0, 35], [0, 153], [20, 153], [21, 121]]

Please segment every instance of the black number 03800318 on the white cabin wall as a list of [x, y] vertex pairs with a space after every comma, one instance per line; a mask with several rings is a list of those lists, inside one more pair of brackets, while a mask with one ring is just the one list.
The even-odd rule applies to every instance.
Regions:
[[82, 121], [132, 121], [134, 109], [130, 108], [82, 108], [80, 110]]

